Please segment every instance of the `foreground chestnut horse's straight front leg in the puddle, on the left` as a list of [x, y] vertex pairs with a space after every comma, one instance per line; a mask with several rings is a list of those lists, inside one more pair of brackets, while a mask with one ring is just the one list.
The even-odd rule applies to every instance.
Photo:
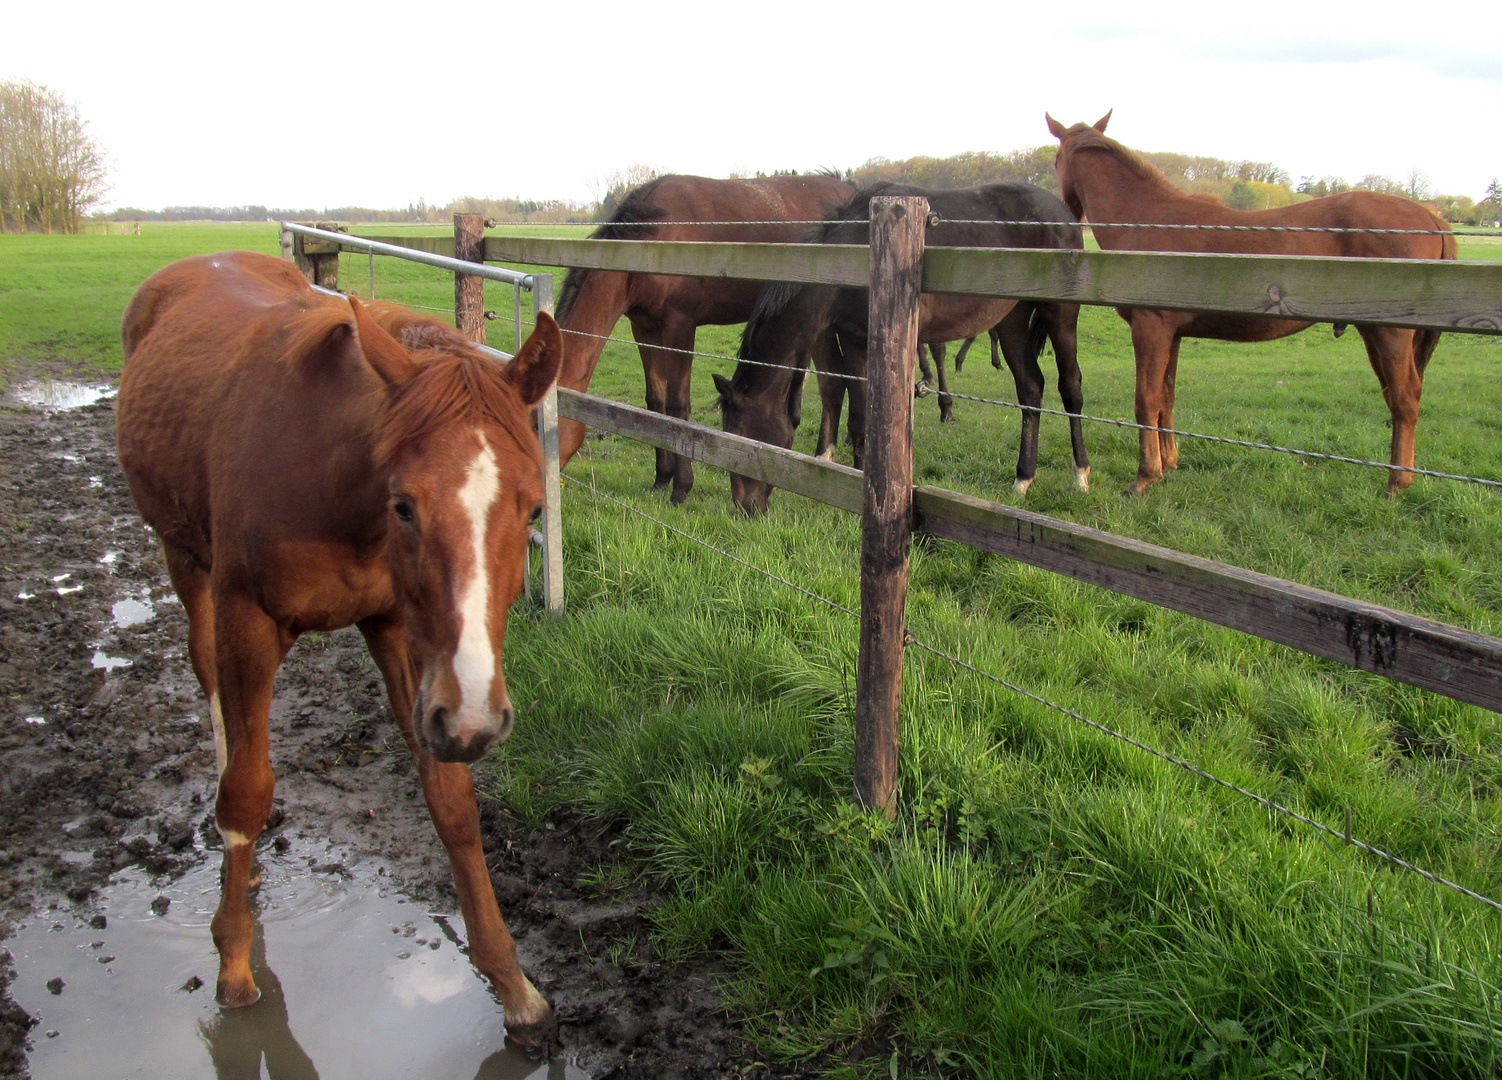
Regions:
[[224, 766], [213, 816], [224, 841], [224, 885], [212, 930], [219, 949], [218, 999], [231, 1008], [261, 996], [251, 975], [251, 864], [275, 784], [266, 732], [272, 680], [291, 643], [293, 637], [251, 599], [215, 595], [215, 677], [222, 716], [222, 745], [215, 750]]

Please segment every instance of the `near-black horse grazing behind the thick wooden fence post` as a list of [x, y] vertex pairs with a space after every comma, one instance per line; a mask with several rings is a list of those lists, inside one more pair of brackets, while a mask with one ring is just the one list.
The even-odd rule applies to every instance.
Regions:
[[[939, 215], [928, 243], [952, 248], [1080, 248], [1080, 227], [1068, 207], [1030, 183], [988, 183], [979, 188], [928, 191], [906, 183], [867, 188], [835, 210], [808, 236], [816, 243], [867, 243], [870, 203], [877, 195], [924, 195]], [[1039, 221], [1045, 227], [990, 222]], [[981, 222], [981, 224], [966, 224]], [[1084, 407], [1075, 356], [1077, 303], [1002, 300], [987, 296], [925, 294], [919, 303], [918, 341], [955, 341], [996, 327], [1002, 353], [1024, 406], [1042, 406], [1044, 379], [1038, 354], [1051, 339], [1059, 364], [1059, 395], [1066, 412]], [[777, 446], [793, 445], [799, 421], [801, 371], [789, 371], [811, 356], [820, 373], [823, 418], [817, 454], [834, 457], [841, 398], [850, 395], [850, 445], [861, 466], [865, 440], [865, 397], [855, 376], [865, 374], [867, 290], [841, 285], [768, 285], [740, 336], [734, 376], [715, 376], [725, 431]], [[765, 367], [765, 365], [783, 367]], [[841, 377], [843, 376], [843, 377]], [[1026, 493], [1038, 472], [1036, 412], [1023, 412], [1015, 490]], [[1078, 416], [1069, 418], [1074, 479], [1089, 490], [1090, 461]], [[730, 494], [748, 514], [766, 509], [771, 485], [748, 476], [730, 476]]]

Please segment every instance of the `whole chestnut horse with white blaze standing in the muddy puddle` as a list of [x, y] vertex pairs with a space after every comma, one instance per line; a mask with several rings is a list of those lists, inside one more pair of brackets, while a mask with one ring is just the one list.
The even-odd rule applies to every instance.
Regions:
[[449, 326], [231, 251], [153, 275], [123, 336], [120, 466], [188, 611], [215, 729], [219, 1002], [260, 996], [248, 889], [272, 805], [272, 679], [299, 634], [353, 623], [416, 757], [470, 958], [512, 1035], [544, 1038], [553, 1012], [496, 906], [464, 763], [512, 726], [502, 638], [542, 503], [527, 418], [557, 377], [557, 324], [539, 315], [502, 367]]

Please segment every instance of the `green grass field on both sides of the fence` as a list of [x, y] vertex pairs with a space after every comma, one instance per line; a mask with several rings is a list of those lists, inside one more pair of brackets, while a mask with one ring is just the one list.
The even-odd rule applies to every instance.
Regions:
[[[275, 228], [0, 237], [0, 356], [111, 373], [134, 285], [222, 246], [273, 251]], [[1497, 258], [1502, 242], [1466, 237], [1461, 254]], [[376, 269], [379, 296], [452, 303], [440, 273]], [[345, 257], [341, 275], [360, 288], [366, 260]], [[508, 314], [509, 290], [488, 287], [487, 303]], [[698, 347], [733, 353], [734, 336], [706, 327]], [[491, 344], [509, 342], [493, 323]], [[1499, 361], [1496, 338], [1440, 342], [1421, 466], [1502, 478]], [[1083, 312], [1081, 365], [1087, 412], [1131, 416], [1113, 312]], [[730, 365], [700, 361], [707, 424], [715, 370]], [[1179, 373], [1182, 428], [1386, 457], [1355, 333], [1187, 342]], [[954, 382], [1012, 397], [981, 353]], [[610, 345], [592, 389], [640, 401], [634, 350]], [[1014, 500], [1015, 413], [955, 412], [942, 427], [918, 403], [919, 478]], [[1062, 421], [1044, 418], [1029, 508], [1502, 632], [1488, 490], [1421, 478], [1385, 502], [1379, 470], [1185, 440], [1182, 467], [1125, 500], [1136, 439], [1086, 436], [1095, 490], [1080, 496]], [[586, 443], [569, 473], [858, 605], [850, 515], [778, 494], [746, 521], [712, 469], [670, 508], [646, 490], [650, 452], [616, 437]], [[565, 562], [568, 614], [511, 620], [518, 724], [484, 783], [524, 819], [566, 804], [616, 829], [625, 859], [598, 888], [661, 885], [664, 940], [728, 952], [730, 999], [769, 1051], [882, 1077], [1497, 1074], [1502, 915], [916, 650], [901, 811], [862, 816], [852, 619], [571, 484]], [[987, 671], [1335, 828], [1349, 811], [1355, 835], [1502, 895], [1496, 713], [945, 542], [915, 548], [909, 620]]]

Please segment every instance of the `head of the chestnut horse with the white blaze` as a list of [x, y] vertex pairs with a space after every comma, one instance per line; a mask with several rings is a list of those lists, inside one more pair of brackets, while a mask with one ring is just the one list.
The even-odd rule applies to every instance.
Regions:
[[416, 680], [413, 727], [437, 760], [473, 762], [511, 733], [502, 641], [542, 508], [529, 410], [557, 379], [563, 338], [539, 312], [515, 359], [499, 365], [452, 327], [394, 324], [398, 341], [350, 303], [360, 351], [386, 383], [377, 457], [389, 476], [386, 550]]

